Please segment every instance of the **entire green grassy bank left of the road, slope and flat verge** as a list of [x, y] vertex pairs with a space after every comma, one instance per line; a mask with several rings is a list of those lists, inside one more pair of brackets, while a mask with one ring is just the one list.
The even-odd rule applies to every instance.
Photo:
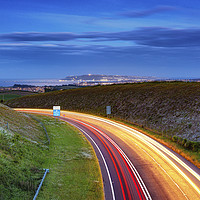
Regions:
[[33, 199], [43, 168], [50, 173], [38, 199], [103, 199], [98, 162], [85, 137], [64, 122], [40, 120], [50, 145], [38, 122], [0, 104], [0, 199]]

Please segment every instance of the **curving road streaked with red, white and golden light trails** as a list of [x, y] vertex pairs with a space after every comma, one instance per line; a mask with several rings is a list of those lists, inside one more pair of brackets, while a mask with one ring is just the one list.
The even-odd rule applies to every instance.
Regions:
[[[17, 110], [52, 115], [52, 110]], [[200, 199], [200, 169], [157, 141], [93, 115], [62, 111], [60, 118], [81, 130], [93, 145], [106, 199]]]

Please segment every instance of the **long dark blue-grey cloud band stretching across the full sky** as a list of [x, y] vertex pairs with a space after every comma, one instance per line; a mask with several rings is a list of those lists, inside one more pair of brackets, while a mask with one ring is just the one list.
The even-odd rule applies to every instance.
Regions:
[[[170, 29], [162, 27], [138, 28], [132, 31], [123, 32], [88, 32], [83, 34], [74, 33], [8, 33], [0, 34], [1, 42], [66, 42], [66, 41], [85, 42], [116, 42], [126, 41], [130, 45], [148, 47], [200, 47], [200, 28], [196, 29]], [[3, 44], [2, 44], [3, 45]], [[54, 45], [49, 44], [49, 45]], [[85, 45], [87, 46], [87, 45]]]

